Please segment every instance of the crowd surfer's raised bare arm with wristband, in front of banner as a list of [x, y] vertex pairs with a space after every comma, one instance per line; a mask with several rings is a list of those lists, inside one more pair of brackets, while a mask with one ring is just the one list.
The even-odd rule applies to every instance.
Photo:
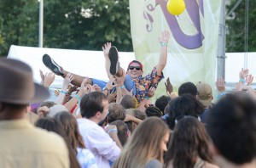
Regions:
[[161, 51], [160, 51], [160, 58], [159, 62], [156, 65], [157, 74], [160, 75], [162, 70], [166, 67], [166, 59], [167, 59], [167, 45], [169, 42], [170, 33], [169, 31], [163, 31], [161, 36], [158, 38], [160, 45], [161, 45]]

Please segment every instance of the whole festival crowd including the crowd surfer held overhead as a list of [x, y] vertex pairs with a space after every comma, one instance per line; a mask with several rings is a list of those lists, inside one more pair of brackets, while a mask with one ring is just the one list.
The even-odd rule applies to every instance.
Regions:
[[[109, 81], [68, 72], [44, 54], [51, 72], [32, 80], [29, 65], [0, 59], [0, 167], [255, 168], [256, 93], [241, 69], [234, 92], [218, 78], [218, 101], [207, 83], [184, 82], [150, 102], [164, 79], [170, 34], [148, 75], [132, 60], [120, 67], [117, 48], [103, 47]], [[49, 87], [63, 77], [55, 101]]]

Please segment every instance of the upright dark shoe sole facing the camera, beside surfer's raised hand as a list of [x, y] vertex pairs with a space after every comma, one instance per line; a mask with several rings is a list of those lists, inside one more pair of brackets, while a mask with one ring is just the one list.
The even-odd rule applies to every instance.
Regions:
[[110, 60], [110, 70], [109, 71], [110, 71], [110, 74], [114, 76], [117, 73], [118, 63], [119, 63], [119, 53], [118, 53], [117, 48], [112, 46], [109, 49], [108, 57]]

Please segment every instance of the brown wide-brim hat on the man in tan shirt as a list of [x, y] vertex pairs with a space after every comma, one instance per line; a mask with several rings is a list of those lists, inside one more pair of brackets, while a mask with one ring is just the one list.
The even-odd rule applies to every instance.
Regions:
[[16, 59], [0, 59], [0, 102], [32, 104], [49, 98], [49, 91], [32, 79], [32, 68]]

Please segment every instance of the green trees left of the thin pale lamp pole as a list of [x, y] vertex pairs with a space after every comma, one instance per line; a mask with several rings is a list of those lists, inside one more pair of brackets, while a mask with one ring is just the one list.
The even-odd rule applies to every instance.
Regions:
[[35, 46], [38, 43], [38, 2], [1, 0], [0, 56], [6, 56], [12, 44]]

